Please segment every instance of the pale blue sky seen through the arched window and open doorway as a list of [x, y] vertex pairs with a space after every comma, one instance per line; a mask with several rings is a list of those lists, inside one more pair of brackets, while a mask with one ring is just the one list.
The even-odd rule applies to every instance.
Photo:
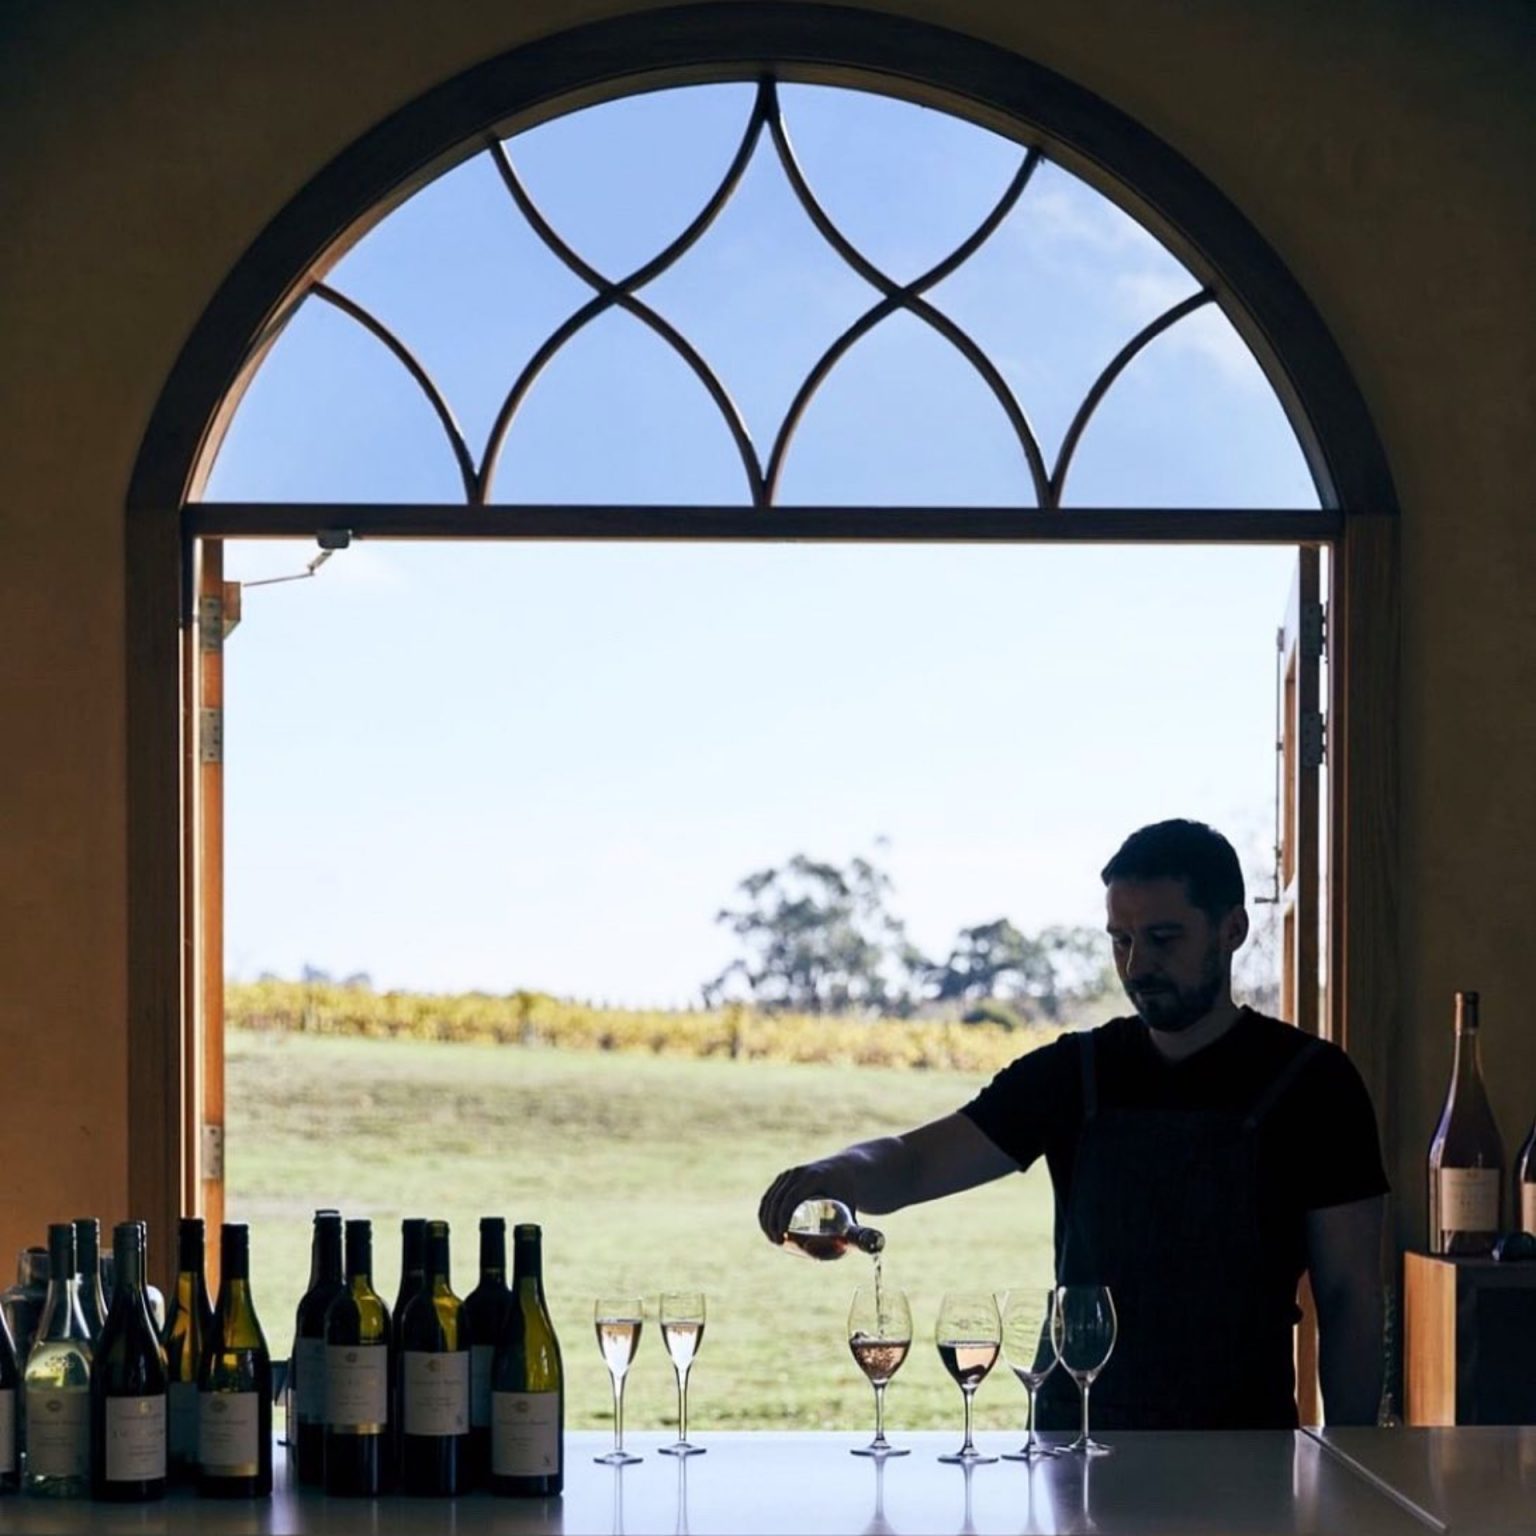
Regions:
[[[551, 224], [610, 276], [708, 197], [746, 86], [628, 98], [511, 138]], [[1018, 146], [940, 112], [785, 88], [796, 152], [897, 280], [940, 260]], [[479, 453], [524, 361], [588, 292], [487, 155], [369, 232], [327, 281], [396, 330]], [[929, 298], [1054, 456], [1098, 370], [1193, 278], [1055, 166]], [[876, 300], [816, 233], [766, 140], [697, 247], [642, 296], [703, 353], [762, 450], [800, 379]], [[215, 501], [456, 501], [424, 398], [310, 300], [252, 382]], [[1017, 442], [969, 364], [895, 316], [828, 378], [783, 502], [1026, 505]], [[508, 433], [498, 502], [740, 502], [719, 412], [630, 316], [579, 333]], [[1313, 507], [1295, 436], [1215, 307], [1111, 390], [1077, 505]], [[508, 510], [508, 516], [515, 516]], [[771, 516], [771, 515], [765, 515]], [[313, 545], [230, 545], [226, 574]], [[876, 857], [911, 935], [1101, 922], [1134, 826], [1198, 816], [1260, 879], [1273, 823], [1284, 548], [356, 542], [246, 593], [226, 651], [227, 969], [531, 986], [684, 1005], [733, 955], [714, 914], [750, 871]]]

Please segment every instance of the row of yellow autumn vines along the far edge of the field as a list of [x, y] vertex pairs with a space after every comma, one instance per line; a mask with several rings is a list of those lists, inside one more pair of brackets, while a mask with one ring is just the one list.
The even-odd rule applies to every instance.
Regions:
[[1060, 1025], [1012, 1026], [932, 1018], [879, 1018], [760, 1012], [739, 1003], [662, 1012], [573, 1003], [544, 992], [375, 992], [319, 980], [230, 982], [224, 1018], [233, 1029], [370, 1040], [631, 1051], [739, 1061], [817, 1061], [848, 1066], [995, 1072], [1055, 1038]]

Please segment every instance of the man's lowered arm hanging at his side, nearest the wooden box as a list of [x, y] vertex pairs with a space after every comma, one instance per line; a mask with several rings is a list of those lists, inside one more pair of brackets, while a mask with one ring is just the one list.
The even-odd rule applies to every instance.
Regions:
[[1329, 1424], [1375, 1424], [1381, 1405], [1381, 1226], [1385, 1200], [1307, 1212], [1318, 1376]]

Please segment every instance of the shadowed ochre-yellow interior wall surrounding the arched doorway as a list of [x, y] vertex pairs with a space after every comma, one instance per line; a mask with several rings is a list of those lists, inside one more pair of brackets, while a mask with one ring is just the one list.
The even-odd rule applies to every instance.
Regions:
[[[123, 496], [223, 275], [459, 69], [624, 3], [12, 0], [0, 18], [0, 1266], [124, 1215]], [[897, 6], [892, 6], [897, 9]], [[1333, 327], [1404, 513], [1409, 1230], [1456, 986], [1507, 1140], [1536, 1109], [1536, 29], [1507, 3], [929, 0], [1163, 137]]]

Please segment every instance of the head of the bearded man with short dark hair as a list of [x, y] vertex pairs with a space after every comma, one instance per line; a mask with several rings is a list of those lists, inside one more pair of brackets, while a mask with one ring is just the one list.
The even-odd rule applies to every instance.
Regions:
[[1132, 833], [1101, 871], [1115, 971], [1152, 1029], [1189, 1029], [1230, 997], [1247, 938], [1243, 869], [1203, 822]]

